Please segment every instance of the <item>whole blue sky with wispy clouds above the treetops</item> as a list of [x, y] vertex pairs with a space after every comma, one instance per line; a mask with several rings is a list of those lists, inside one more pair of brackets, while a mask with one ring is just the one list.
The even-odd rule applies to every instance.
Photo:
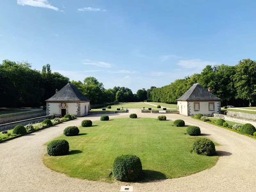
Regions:
[[133, 92], [255, 59], [255, 1], [1, 0], [0, 60]]

